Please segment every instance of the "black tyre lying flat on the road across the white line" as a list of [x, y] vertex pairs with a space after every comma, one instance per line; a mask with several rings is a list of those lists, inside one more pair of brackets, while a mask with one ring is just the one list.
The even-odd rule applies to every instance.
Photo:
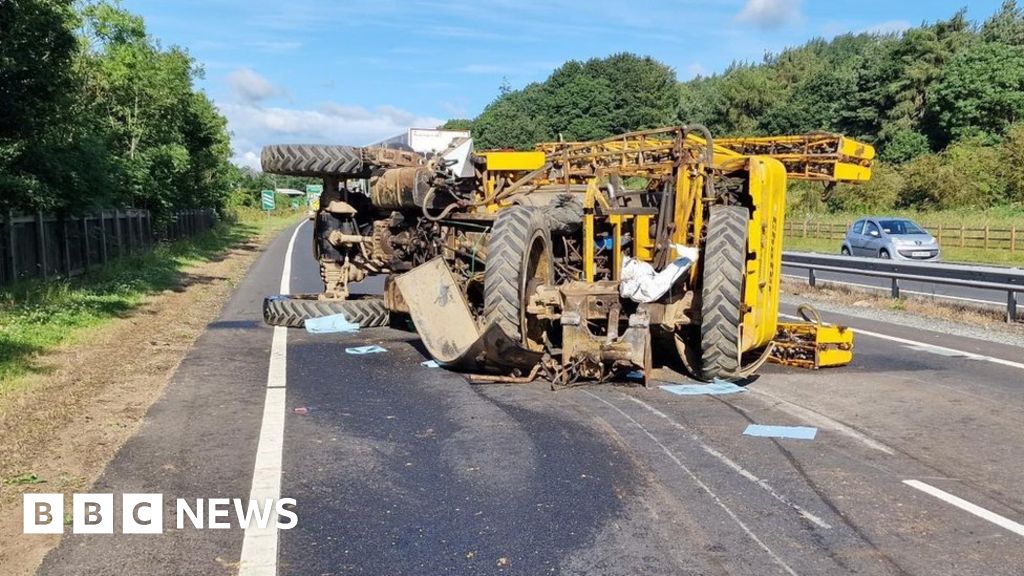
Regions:
[[310, 318], [344, 314], [362, 328], [387, 326], [389, 315], [379, 297], [321, 300], [315, 294], [268, 296], [263, 299], [263, 321], [270, 326], [302, 328]]

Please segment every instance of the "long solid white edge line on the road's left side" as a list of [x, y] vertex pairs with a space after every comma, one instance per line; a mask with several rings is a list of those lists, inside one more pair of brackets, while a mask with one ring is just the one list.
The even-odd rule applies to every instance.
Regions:
[[[292, 252], [295, 239], [305, 224], [305, 220], [295, 227], [292, 239], [285, 253], [285, 265], [281, 273], [281, 293], [291, 292]], [[288, 328], [275, 326], [270, 342], [270, 368], [266, 374], [266, 398], [263, 401], [263, 423], [259, 430], [259, 445], [256, 448], [256, 465], [253, 467], [253, 484], [249, 492], [250, 500], [261, 505], [268, 498], [276, 501], [281, 497], [281, 460], [285, 449], [285, 385], [288, 380]], [[239, 562], [239, 576], [276, 576], [278, 574], [278, 526], [267, 523], [259, 528], [256, 523], [246, 528], [242, 540], [242, 557]]]

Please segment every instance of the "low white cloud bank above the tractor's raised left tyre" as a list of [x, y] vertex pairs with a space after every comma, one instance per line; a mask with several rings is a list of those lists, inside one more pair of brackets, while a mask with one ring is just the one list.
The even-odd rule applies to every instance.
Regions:
[[382, 106], [368, 110], [330, 102], [315, 110], [264, 108], [255, 102], [218, 102], [231, 130], [232, 161], [259, 169], [260, 150], [271, 143], [366, 146], [409, 128], [433, 128], [439, 118]]

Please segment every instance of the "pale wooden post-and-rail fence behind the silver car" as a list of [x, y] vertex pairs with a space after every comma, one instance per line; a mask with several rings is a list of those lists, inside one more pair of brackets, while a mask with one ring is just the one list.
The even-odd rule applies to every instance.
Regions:
[[[791, 238], [812, 238], [817, 240], [842, 241], [853, 222], [822, 222], [814, 220], [785, 220], [785, 234]], [[1016, 253], [1024, 250], [1024, 228], [991, 228], [921, 224], [939, 240], [939, 245], [947, 248], [979, 248], [982, 250], [1009, 250]], [[838, 245], [837, 245], [838, 246]]]

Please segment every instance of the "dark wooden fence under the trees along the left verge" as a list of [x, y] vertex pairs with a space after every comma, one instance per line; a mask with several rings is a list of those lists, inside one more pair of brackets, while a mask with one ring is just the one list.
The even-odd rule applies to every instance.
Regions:
[[0, 215], [0, 286], [30, 278], [70, 278], [146, 250], [159, 240], [207, 231], [215, 210], [179, 210], [154, 230], [148, 210], [100, 210], [82, 216], [38, 212]]

